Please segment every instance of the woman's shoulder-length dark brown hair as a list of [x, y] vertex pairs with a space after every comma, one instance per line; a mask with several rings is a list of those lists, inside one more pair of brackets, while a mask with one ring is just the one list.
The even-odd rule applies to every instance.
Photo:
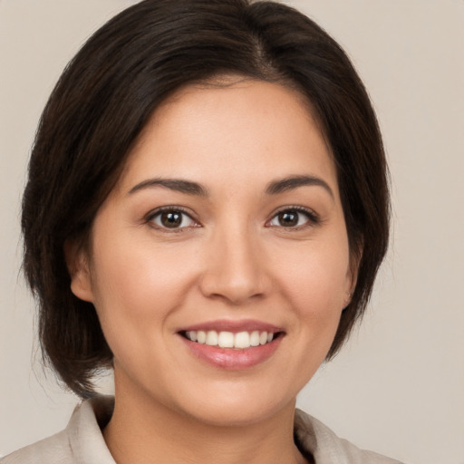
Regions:
[[24, 191], [24, 273], [39, 304], [43, 357], [82, 397], [112, 353], [92, 304], [70, 289], [63, 245], [86, 243], [92, 220], [150, 115], [190, 82], [238, 74], [281, 82], [311, 102], [336, 164], [357, 285], [329, 357], [362, 315], [389, 234], [382, 138], [341, 47], [285, 5], [145, 0], [115, 16], [63, 72], [34, 141]]

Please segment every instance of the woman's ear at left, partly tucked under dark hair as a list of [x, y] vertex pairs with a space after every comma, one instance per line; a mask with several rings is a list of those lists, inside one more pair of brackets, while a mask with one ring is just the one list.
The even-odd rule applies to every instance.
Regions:
[[76, 240], [66, 240], [64, 259], [71, 276], [71, 291], [81, 300], [93, 303], [92, 278], [86, 250]]

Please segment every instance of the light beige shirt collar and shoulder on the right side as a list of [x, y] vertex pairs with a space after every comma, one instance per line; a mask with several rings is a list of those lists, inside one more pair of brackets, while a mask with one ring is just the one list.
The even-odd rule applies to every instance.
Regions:
[[340, 439], [321, 421], [303, 411], [295, 411], [295, 439], [299, 446], [310, 452], [317, 464], [401, 464], [365, 449], [359, 449]]

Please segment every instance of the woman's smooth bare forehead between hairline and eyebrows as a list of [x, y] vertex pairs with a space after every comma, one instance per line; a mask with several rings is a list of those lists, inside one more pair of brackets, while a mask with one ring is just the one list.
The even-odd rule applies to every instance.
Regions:
[[324, 176], [336, 190], [333, 158], [310, 104], [277, 83], [236, 80], [191, 84], [163, 102], [121, 181], [156, 175], [257, 183], [302, 173]]

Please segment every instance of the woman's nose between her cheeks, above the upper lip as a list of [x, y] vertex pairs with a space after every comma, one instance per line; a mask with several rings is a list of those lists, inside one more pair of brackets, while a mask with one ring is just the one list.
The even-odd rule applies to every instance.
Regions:
[[200, 289], [208, 298], [227, 304], [247, 304], [267, 295], [271, 279], [259, 239], [246, 227], [218, 231], [208, 242]]

